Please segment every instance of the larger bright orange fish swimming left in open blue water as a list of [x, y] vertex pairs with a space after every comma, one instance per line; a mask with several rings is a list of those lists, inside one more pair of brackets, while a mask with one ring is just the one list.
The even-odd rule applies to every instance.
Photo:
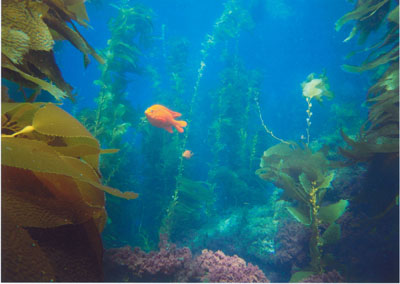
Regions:
[[178, 132], [182, 133], [182, 127], [187, 125], [186, 121], [174, 119], [181, 116], [179, 112], [172, 111], [162, 105], [152, 105], [146, 109], [144, 114], [152, 125], [159, 128], [164, 128], [170, 133], [173, 133], [172, 126], [175, 127]]

